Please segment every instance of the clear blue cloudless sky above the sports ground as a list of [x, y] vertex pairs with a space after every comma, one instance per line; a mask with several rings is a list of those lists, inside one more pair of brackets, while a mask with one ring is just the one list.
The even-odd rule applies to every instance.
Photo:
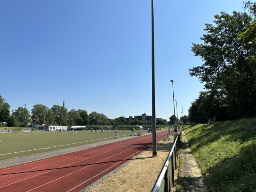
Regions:
[[[220, 12], [243, 0], [155, 0], [156, 117], [178, 117], [203, 84], [191, 51]], [[96, 111], [112, 119], [152, 115], [151, 0], [1, 0], [0, 95], [11, 109], [36, 104]], [[176, 102], [175, 102], [176, 108]], [[175, 109], [176, 114], [176, 109]], [[177, 114], [176, 114], [177, 116]]]

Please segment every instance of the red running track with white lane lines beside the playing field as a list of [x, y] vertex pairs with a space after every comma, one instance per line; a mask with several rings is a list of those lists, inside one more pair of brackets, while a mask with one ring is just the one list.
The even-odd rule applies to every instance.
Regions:
[[[167, 131], [157, 132], [157, 141]], [[152, 134], [0, 169], [3, 192], [79, 192], [152, 145]]]

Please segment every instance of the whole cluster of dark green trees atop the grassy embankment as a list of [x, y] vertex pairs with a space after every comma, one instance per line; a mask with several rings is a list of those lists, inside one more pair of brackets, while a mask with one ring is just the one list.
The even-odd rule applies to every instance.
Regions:
[[193, 44], [204, 64], [189, 73], [207, 91], [191, 103], [190, 122], [205, 123], [214, 115], [218, 120], [256, 116], [256, 3], [247, 1], [244, 9], [249, 14], [215, 15], [215, 25], [205, 24], [204, 44]]

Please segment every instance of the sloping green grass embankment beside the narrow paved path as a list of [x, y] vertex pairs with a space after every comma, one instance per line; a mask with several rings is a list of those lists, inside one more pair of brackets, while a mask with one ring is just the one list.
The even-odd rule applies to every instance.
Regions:
[[211, 192], [256, 192], [256, 118], [184, 130]]

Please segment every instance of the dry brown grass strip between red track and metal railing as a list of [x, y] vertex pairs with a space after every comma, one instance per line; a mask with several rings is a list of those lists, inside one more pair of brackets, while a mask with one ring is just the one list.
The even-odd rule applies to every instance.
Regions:
[[161, 140], [157, 143], [157, 157], [152, 157], [152, 147], [148, 148], [83, 191], [151, 192], [172, 145], [172, 140]]

